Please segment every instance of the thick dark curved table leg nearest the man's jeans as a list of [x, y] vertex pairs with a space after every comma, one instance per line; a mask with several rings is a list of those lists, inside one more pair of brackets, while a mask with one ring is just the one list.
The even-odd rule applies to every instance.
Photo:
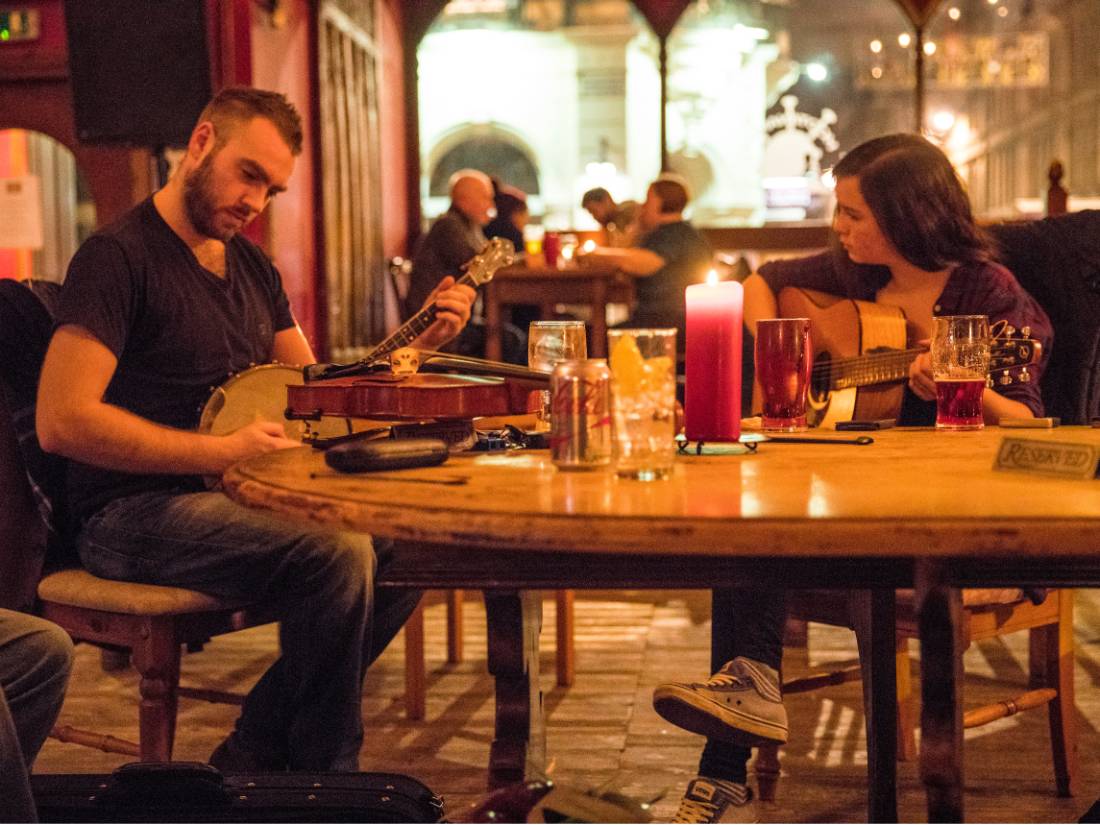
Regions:
[[496, 727], [488, 787], [522, 782], [546, 767], [539, 691], [542, 602], [532, 591], [485, 591], [488, 672], [496, 679]]

